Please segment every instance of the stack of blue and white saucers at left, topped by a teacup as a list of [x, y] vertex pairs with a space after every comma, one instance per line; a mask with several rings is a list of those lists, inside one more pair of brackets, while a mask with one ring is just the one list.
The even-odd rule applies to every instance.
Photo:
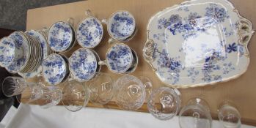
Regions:
[[[0, 43], [3, 46], [4, 44], [15, 45], [15, 50], [5, 49], [5, 52], [0, 52], [0, 56], [5, 56], [7, 51], [8, 55], [11, 55], [11, 57], [5, 56], [0, 60], [1, 66], [5, 67], [7, 71], [11, 73], [33, 72], [40, 65], [43, 58], [42, 48], [40, 42], [31, 35], [15, 31], [9, 37], [1, 39]], [[9, 59], [7, 59], [8, 57]]]

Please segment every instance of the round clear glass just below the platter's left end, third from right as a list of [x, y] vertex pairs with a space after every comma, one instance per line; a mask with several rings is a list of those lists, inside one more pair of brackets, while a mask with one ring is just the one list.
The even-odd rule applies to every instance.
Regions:
[[160, 120], [173, 118], [180, 110], [180, 92], [169, 87], [154, 90], [147, 102], [147, 110]]

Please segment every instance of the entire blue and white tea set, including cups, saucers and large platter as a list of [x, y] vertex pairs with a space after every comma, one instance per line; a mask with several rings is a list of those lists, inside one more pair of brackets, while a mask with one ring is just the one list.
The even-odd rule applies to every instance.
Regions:
[[[103, 24], [111, 43], [106, 60], [100, 60], [92, 50], [103, 39]], [[15, 31], [4, 37], [0, 40], [0, 66], [23, 78], [43, 75], [51, 85], [67, 78], [92, 80], [103, 65], [111, 72], [129, 74], [136, 70], [139, 60], [135, 50], [125, 42], [133, 39], [136, 28], [134, 16], [126, 10], [114, 12], [101, 21], [86, 10], [77, 29], [74, 19], [69, 18], [47, 30]], [[230, 1], [186, 1], [150, 18], [143, 57], [167, 86], [211, 85], [246, 72], [247, 45], [253, 34], [252, 23]], [[51, 54], [65, 53], [76, 42], [82, 48], [70, 58]]]

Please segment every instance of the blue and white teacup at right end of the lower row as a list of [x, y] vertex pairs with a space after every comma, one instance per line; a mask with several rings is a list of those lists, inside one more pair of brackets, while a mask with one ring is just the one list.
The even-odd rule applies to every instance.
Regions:
[[134, 72], [138, 65], [136, 52], [128, 45], [116, 43], [106, 53], [106, 60], [99, 61], [100, 65], [106, 65], [111, 72], [128, 74]]

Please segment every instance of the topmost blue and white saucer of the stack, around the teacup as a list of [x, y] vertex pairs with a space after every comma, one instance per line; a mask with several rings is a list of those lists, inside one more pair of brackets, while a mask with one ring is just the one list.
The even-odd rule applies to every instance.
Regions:
[[28, 39], [26, 39], [23, 32], [21, 31], [15, 31], [12, 34], [10, 34], [9, 37], [14, 40], [15, 44], [17, 45], [16, 47], [18, 49], [23, 50], [23, 56], [21, 56], [18, 59], [15, 59], [12, 62], [12, 64], [5, 68], [8, 72], [18, 73], [22, 69], [24, 69], [24, 67], [26, 67], [26, 64], [28, 63], [31, 54], [31, 48], [29, 46]]

